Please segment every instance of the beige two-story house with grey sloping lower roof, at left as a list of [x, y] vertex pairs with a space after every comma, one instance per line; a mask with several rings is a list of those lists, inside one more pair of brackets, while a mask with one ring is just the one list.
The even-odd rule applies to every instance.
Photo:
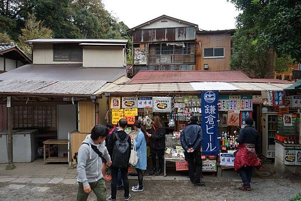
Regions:
[[[93, 126], [106, 123], [109, 95], [102, 95], [101, 88], [127, 81], [128, 41], [35, 39], [27, 43], [33, 48], [33, 64], [0, 74], [0, 131], [34, 130], [30, 142], [33, 158], [36, 145], [41, 147], [48, 139], [70, 138], [69, 149], [60, 145], [55, 155], [64, 158], [50, 158], [67, 161], [69, 151], [70, 162], [71, 154], [77, 152]], [[23, 154], [20, 150], [29, 151], [14, 150], [17, 155]]]

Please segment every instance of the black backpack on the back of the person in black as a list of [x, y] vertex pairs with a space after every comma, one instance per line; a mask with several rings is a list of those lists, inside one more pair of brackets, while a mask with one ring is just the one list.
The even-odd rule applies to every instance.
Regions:
[[115, 136], [117, 141], [115, 142], [113, 148], [112, 166], [118, 168], [127, 168], [130, 152], [130, 147], [127, 142], [129, 137], [127, 135], [124, 140], [121, 140], [117, 133], [115, 133]]

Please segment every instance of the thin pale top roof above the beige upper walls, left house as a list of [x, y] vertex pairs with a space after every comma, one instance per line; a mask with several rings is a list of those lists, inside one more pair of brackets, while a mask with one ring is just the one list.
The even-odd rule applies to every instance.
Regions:
[[52, 39], [34, 39], [25, 41], [27, 43], [124, 43], [125, 39], [69, 39], [69, 38], [52, 38]]

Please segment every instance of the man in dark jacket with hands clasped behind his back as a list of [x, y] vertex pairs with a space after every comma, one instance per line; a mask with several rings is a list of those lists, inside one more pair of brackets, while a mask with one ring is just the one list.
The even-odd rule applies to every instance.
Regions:
[[202, 128], [197, 124], [198, 118], [190, 118], [190, 124], [181, 132], [180, 141], [185, 150], [185, 160], [188, 162], [189, 178], [194, 186], [204, 186], [201, 181], [202, 158], [201, 146], [203, 140]]

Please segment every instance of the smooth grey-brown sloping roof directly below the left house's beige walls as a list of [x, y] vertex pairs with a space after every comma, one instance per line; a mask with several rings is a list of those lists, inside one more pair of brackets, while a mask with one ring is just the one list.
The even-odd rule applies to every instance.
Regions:
[[82, 64], [28, 64], [0, 74], [0, 80], [107, 80], [126, 74], [125, 68], [82, 68]]

